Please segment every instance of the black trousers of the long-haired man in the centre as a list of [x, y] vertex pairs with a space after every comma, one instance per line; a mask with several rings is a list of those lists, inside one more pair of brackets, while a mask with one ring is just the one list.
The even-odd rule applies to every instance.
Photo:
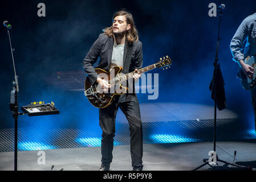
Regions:
[[99, 109], [100, 127], [103, 131], [101, 139], [101, 163], [109, 164], [113, 159], [112, 151], [113, 138], [115, 137], [115, 120], [119, 107], [129, 122], [132, 167], [143, 166], [142, 123], [139, 101], [136, 94], [116, 95], [115, 100], [110, 106]]

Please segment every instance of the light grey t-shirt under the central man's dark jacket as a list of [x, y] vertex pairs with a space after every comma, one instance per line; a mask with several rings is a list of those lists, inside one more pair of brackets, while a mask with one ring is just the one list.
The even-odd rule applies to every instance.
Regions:
[[115, 65], [123, 67], [124, 44], [117, 45], [114, 42], [110, 68]]

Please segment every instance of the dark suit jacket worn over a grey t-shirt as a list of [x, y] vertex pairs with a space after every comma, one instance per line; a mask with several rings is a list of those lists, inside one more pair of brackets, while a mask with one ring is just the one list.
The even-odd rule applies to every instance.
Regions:
[[[95, 41], [90, 51], [84, 58], [83, 68], [84, 71], [86, 71], [91, 84], [94, 84], [97, 80], [97, 73], [95, 72], [93, 65], [94, 63], [96, 63], [98, 57], [100, 57], [100, 60], [96, 68], [101, 68], [105, 71], [109, 71], [109, 65], [112, 59], [113, 43], [113, 38], [105, 36], [104, 33], [100, 34], [99, 38]], [[124, 62], [122, 73], [124, 74], [133, 72], [135, 69], [142, 68], [142, 43], [140, 41], [133, 42], [132, 44], [128, 44], [127, 42], [125, 42], [123, 60]]]

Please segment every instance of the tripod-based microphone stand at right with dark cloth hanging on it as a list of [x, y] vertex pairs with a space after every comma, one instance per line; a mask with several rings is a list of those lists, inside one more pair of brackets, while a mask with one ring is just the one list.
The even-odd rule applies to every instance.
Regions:
[[[217, 99], [216, 99], [216, 87], [217, 87], [217, 69], [220, 68], [220, 63], [218, 63], [218, 51], [219, 51], [219, 45], [220, 45], [220, 28], [221, 28], [221, 17], [222, 17], [222, 8], [220, 9], [220, 21], [219, 21], [219, 27], [218, 27], [218, 38], [217, 38], [217, 46], [216, 46], [216, 55], [215, 55], [215, 61], [213, 63], [214, 65], [214, 71], [213, 71], [213, 87], [214, 87], [214, 142], [213, 142], [213, 151], [214, 154], [216, 154], [216, 118], [217, 118]], [[212, 156], [214, 155], [212, 154]], [[209, 164], [209, 160], [208, 159], [203, 159], [204, 164], [202, 164], [201, 166], [193, 169], [193, 171], [196, 171], [197, 169], [200, 169], [201, 167], [204, 167], [206, 164], [208, 164], [210, 167], [212, 167]], [[241, 166], [237, 166], [235, 164], [231, 164], [231, 163], [227, 163], [224, 160], [218, 159], [218, 155], [216, 154], [216, 163], [217, 162], [221, 162], [221, 163], [225, 163], [225, 164], [229, 164], [231, 166], [235, 166], [235, 167], [241, 167]], [[218, 165], [218, 163], [217, 163]]]

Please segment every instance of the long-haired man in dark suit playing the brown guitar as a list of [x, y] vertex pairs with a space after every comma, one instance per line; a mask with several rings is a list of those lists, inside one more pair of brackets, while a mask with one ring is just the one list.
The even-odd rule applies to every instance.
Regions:
[[[140, 78], [136, 73], [143, 65], [142, 43], [139, 41], [138, 33], [133, 22], [132, 14], [127, 11], [117, 11], [113, 15], [111, 27], [105, 28], [104, 33], [92, 45], [83, 61], [83, 68], [91, 84], [99, 84], [104, 92], [107, 92], [111, 85], [103, 80], [93, 67], [98, 57], [99, 64], [96, 68], [108, 71], [113, 66], [123, 67], [123, 73], [135, 71], [134, 82]], [[135, 91], [115, 96], [108, 107], [99, 109], [100, 127], [103, 131], [101, 139], [101, 167], [100, 171], [108, 171], [112, 162], [113, 137], [115, 137], [115, 119], [117, 110], [123, 111], [129, 122], [131, 136], [131, 158], [134, 171], [143, 169], [143, 134], [140, 117], [139, 101]]]

